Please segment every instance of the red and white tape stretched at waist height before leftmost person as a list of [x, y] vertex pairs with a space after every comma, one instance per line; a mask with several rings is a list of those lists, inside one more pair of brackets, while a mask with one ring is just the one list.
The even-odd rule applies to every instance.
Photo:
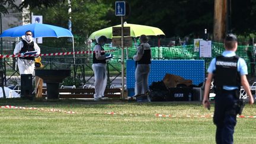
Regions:
[[21, 54], [18, 55], [1, 55], [0, 54], [0, 59], [3, 58], [10, 58], [10, 57], [31, 57], [31, 56], [65, 56], [65, 55], [81, 55], [81, 54], [88, 54], [88, 53], [102, 53], [102, 52], [114, 52], [116, 49], [111, 49], [111, 50], [101, 50], [101, 51], [92, 51], [92, 50], [87, 50], [87, 51], [78, 51], [78, 52], [60, 52], [60, 53], [45, 53], [45, 54], [34, 54], [34, 55], [25, 55], [21, 56]]

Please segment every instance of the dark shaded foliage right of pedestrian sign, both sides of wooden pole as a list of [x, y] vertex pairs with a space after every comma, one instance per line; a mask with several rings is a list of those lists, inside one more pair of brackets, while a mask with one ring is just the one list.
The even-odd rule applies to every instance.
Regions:
[[[225, 0], [226, 1], [226, 0]], [[114, 0], [111, 1], [114, 4]], [[161, 28], [167, 37], [203, 37], [204, 28], [213, 33], [214, 1], [169, 0], [128, 1], [131, 7], [127, 23]], [[113, 6], [114, 7], [114, 6]], [[255, 33], [256, 1], [231, 1], [231, 28], [236, 34]], [[120, 18], [109, 17], [120, 23]]]

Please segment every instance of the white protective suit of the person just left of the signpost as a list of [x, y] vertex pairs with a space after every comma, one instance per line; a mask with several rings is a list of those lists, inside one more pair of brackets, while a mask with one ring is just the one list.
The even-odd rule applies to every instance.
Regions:
[[[100, 51], [100, 44], [96, 44], [94, 46], [94, 51]], [[95, 57], [97, 60], [104, 60], [106, 58], [105, 55], [101, 55], [100, 52], [95, 53]], [[106, 63], [93, 63], [92, 70], [94, 71], [94, 79], [95, 79], [95, 100], [104, 97], [105, 87], [107, 86], [107, 64]]]

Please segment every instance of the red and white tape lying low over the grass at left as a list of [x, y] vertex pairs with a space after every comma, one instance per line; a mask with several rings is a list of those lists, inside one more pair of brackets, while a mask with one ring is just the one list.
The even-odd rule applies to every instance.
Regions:
[[9, 108], [9, 109], [19, 109], [19, 110], [41, 110], [41, 111], [51, 111], [51, 112], [60, 112], [60, 113], [67, 113], [67, 114], [78, 114], [75, 111], [65, 111], [65, 110], [57, 110], [57, 109], [44, 109], [44, 108], [36, 108], [36, 107], [15, 107], [12, 105], [5, 105], [1, 106], [1, 108]]

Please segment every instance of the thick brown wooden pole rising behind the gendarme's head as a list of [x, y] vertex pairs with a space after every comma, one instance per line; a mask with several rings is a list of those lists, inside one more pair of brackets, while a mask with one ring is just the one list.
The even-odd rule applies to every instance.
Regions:
[[213, 40], [222, 42], [226, 33], [227, 1], [215, 0]]

